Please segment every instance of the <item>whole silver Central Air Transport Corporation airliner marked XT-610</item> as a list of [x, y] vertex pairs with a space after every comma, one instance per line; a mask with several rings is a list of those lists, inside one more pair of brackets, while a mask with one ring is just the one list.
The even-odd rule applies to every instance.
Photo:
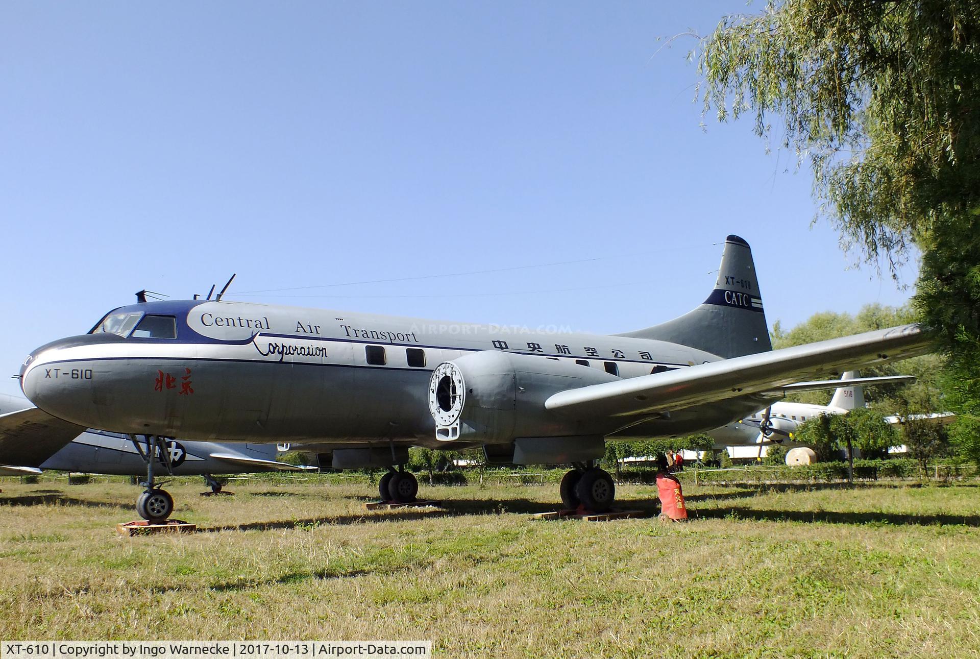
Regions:
[[[326, 442], [334, 466], [390, 467], [385, 485], [402, 501], [417, 492], [400, 467], [410, 445], [571, 464], [564, 504], [608, 510], [613, 479], [596, 465], [606, 438], [709, 431], [778, 400], [791, 382], [892, 362], [928, 345], [917, 326], [904, 326], [771, 350], [751, 250], [730, 235], [705, 302], [648, 329], [504, 332], [243, 302], [150, 301], [37, 348], [21, 385], [51, 419], [81, 428], [154, 441]], [[144, 496], [157, 491], [150, 482]]]

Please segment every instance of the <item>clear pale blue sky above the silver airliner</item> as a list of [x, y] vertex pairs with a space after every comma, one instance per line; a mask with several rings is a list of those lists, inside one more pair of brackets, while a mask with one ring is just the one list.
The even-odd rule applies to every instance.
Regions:
[[[694, 39], [658, 52], [745, 9], [7, 0], [0, 374], [231, 273], [229, 299], [638, 329], [705, 298], [728, 233], [770, 326], [903, 303], [810, 228], [792, 154], [700, 126]], [[402, 280], [336, 285], [377, 279]]]

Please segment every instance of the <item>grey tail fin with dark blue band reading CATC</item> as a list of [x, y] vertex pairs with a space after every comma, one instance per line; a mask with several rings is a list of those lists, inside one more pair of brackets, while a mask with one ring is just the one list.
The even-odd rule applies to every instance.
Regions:
[[725, 238], [718, 280], [697, 309], [652, 328], [618, 335], [680, 343], [725, 359], [771, 350], [749, 243], [737, 235]]

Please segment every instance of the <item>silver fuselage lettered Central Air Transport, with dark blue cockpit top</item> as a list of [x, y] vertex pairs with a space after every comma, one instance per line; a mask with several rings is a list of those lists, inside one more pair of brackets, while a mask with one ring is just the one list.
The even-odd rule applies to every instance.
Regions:
[[[172, 319], [172, 336], [170, 329], [141, 332], [150, 316], [168, 328]], [[86, 428], [195, 440], [439, 445], [427, 405], [430, 375], [440, 363], [472, 352], [558, 360], [592, 369], [589, 378], [601, 381], [720, 359], [628, 336], [204, 300], [121, 307], [96, 328], [109, 331], [31, 353], [21, 370], [27, 398]], [[627, 431], [622, 420], [579, 420], [567, 433], [707, 431], [768, 402], [733, 398], [633, 422]], [[565, 422], [556, 416], [556, 423]]]

